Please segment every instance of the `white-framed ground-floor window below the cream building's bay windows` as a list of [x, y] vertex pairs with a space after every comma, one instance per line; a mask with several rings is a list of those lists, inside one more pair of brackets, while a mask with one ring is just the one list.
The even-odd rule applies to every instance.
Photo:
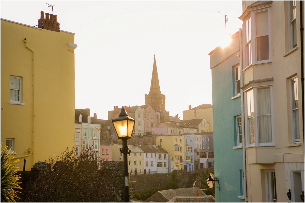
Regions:
[[[274, 173], [274, 174], [273, 174]], [[273, 174], [273, 177], [271, 177]], [[272, 184], [274, 187], [272, 187]], [[276, 194], [276, 175], [274, 170], [265, 170], [265, 188], [266, 188], [266, 202], [277, 202]], [[275, 197], [272, 198], [272, 192], [274, 192]]]

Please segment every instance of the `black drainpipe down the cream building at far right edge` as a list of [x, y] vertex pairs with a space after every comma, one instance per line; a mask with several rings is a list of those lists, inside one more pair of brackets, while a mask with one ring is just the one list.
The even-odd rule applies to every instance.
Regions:
[[304, 145], [304, 50], [303, 50], [303, 3], [300, 1], [300, 31], [301, 31], [301, 87], [302, 87], [302, 118], [303, 118], [303, 147]]

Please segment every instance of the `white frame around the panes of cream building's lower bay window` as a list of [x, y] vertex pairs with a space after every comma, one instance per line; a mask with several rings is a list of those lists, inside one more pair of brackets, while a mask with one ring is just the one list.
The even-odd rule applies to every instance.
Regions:
[[[268, 143], [260, 143], [259, 142], [259, 135], [258, 135], [258, 116], [257, 115], [257, 89], [259, 88], [270, 88], [270, 110], [271, 110], [271, 140], [272, 142]], [[251, 99], [251, 102], [253, 102], [253, 105], [251, 105], [251, 108], [253, 108], [254, 115], [252, 115], [249, 118], [253, 118], [253, 125], [254, 125], [254, 143], [250, 143], [250, 133], [248, 129], [248, 116], [247, 116], [247, 111], [248, 111], [248, 95], [247, 93], [253, 91], [253, 99]], [[246, 92], [246, 110], [245, 110], [245, 131], [246, 131], [246, 145], [247, 146], [274, 146], [274, 124], [273, 124], [273, 96], [272, 96], [272, 85], [264, 85], [264, 86], [255, 86], [253, 88], [248, 89]], [[252, 109], [251, 109], [252, 110]]]

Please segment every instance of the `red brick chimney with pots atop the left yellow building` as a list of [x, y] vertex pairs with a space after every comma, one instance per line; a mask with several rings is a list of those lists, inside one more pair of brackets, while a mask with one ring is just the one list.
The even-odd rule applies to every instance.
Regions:
[[57, 22], [57, 15], [50, 14], [49, 19], [49, 13], [44, 13], [44, 11], [40, 12], [40, 19], [38, 19], [38, 28], [47, 29], [59, 33], [59, 22]]

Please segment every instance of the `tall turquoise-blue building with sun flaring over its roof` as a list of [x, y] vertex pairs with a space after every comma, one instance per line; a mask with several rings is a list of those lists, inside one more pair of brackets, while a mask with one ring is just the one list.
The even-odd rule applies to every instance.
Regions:
[[[216, 202], [245, 202], [243, 192], [242, 109], [239, 32], [231, 43], [210, 55], [213, 94], [213, 138]], [[220, 189], [220, 190], [219, 190]]]

